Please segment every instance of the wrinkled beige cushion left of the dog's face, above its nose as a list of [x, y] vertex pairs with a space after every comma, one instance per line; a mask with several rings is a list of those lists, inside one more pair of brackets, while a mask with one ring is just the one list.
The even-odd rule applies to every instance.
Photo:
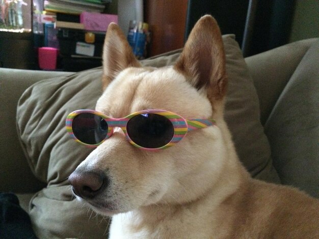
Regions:
[[101, 87], [101, 70], [94, 69], [40, 81], [20, 98], [18, 132], [31, 169], [42, 182], [64, 182], [92, 151], [70, 140], [65, 118], [75, 109], [94, 108]]

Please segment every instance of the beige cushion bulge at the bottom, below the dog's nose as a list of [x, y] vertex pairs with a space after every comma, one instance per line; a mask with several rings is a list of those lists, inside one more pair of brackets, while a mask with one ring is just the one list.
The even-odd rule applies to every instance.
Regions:
[[39, 238], [107, 238], [110, 223], [75, 200], [70, 186], [48, 187], [35, 194], [29, 215]]

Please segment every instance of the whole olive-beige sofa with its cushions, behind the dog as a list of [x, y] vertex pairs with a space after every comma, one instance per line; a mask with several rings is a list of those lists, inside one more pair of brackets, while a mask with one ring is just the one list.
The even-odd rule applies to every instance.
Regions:
[[[319, 39], [247, 58], [234, 35], [223, 41], [229, 78], [225, 119], [242, 163], [259, 180], [319, 198]], [[172, 65], [180, 52], [142, 64]], [[64, 127], [69, 112], [94, 109], [101, 74], [101, 68], [77, 73], [0, 68], [0, 192], [17, 195], [39, 238], [108, 235], [110, 219], [72, 196], [67, 177], [92, 148], [74, 142]]]

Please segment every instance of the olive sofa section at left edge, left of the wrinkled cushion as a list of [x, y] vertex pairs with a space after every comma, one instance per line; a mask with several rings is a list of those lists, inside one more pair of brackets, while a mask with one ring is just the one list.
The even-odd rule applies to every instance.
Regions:
[[0, 191], [27, 193], [43, 187], [32, 174], [19, 143], [17, 103], [24, 90], [33, 83], [69, 74], [0, 68]]

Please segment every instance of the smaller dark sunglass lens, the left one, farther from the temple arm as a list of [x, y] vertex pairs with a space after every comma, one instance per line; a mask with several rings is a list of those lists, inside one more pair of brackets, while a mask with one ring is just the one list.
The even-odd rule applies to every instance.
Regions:
[[82, 113], [74, 117], [72, 122], [74, 136], [87, 144], [97, 144], [108, 135], [108, 123], [101, 116]]

